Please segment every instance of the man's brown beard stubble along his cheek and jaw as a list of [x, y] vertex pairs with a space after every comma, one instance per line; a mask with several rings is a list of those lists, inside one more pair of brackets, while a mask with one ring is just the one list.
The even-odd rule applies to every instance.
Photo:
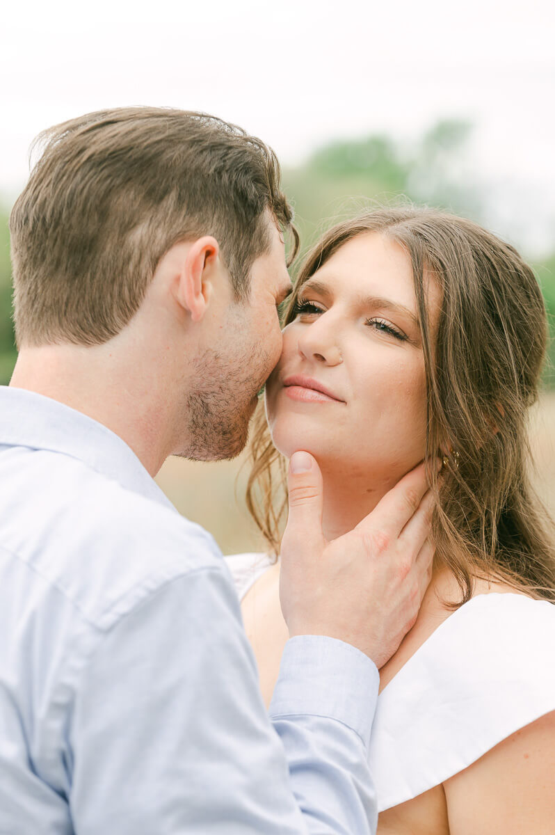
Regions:
[[267, 354], [258, 352], [254, 358], [251, 353], [234, 361], [209, 349], [197, 357], [194, 366], [193, 387], [185, 405], [189, 448], [179, 457], [192, 461], [235, 458], [245, 449], [256, 395], [271, 372]]

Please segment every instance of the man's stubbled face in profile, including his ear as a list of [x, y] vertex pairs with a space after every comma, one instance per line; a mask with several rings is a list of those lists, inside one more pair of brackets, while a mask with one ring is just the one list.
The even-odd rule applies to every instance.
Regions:
[[[277, 306], [289, 294], [291, 284], [284, 242], [270, 220], [268, 233], [269, 247], [252, 265], [250, 298], [245, 303], [231, 298], [215, 239], [184, 245], [183, 253], [179, 245], [174, 247], [154, 276], [154, 293], [173, 281], [180, 309], [190, 311], [199, 323], [193, 361], [187, 364], [188, 382], [182, 387], [186, 397], [181, 415], [188, 432], [184, 436], [187, 445], [179, 454], [186, 458], [208, 461], [233, 458], [241, 452], [257, 393], [280, 359]], [[211, 243], [214, 251], [209, 249]], [[168, 331], [172, 330], [179, 342], [179, 317], [176, 323], [168, 323]]]

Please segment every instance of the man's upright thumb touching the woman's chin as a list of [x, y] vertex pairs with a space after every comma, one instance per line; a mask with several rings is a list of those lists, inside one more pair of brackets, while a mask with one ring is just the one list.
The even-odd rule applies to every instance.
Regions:
[[321, 544], [323, 484], [320, 467], [310, 453], [291, 455], [288, 474], [289, 516], [281, 552]]

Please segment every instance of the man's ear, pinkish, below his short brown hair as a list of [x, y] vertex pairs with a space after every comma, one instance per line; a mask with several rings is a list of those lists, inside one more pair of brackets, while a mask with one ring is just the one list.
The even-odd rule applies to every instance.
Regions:
[[200, 321], [204, 316], [214, 289], [213, 274], [218, 256], [218, 241], [211, 235], [194, 240], [186, 253], [175, 296], [189, 311], [192, 321]]

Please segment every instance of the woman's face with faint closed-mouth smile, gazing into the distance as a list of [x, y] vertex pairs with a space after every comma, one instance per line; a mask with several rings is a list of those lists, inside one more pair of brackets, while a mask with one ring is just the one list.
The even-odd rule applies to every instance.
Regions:
[[[433, 332], [439, 292], [428, 288]], [[318, 388], [325, 392], [319, 392]], [[424, 457], [426, 374], [411, 261], [376, 232], [348, 241], [300, 289], [266, 384], [276, 448], [389, 483]]]

